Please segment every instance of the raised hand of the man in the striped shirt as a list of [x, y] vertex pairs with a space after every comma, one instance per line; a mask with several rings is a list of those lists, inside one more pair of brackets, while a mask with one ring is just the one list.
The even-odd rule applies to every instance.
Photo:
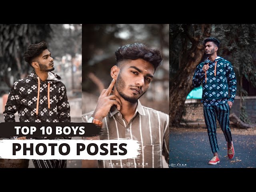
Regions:
[[100, 97], [98, 98], [98, 103], [92, 117], [99, 121], [102, 121], [103, 118], [107, 116], [113, 105], [116, 105], [118, 110], [121, 109], [122, 104], [120, 99], [116, 95], [110, 95], [115, 83], [116, 80], [113, 79], [109, 87], [102, 90]]

